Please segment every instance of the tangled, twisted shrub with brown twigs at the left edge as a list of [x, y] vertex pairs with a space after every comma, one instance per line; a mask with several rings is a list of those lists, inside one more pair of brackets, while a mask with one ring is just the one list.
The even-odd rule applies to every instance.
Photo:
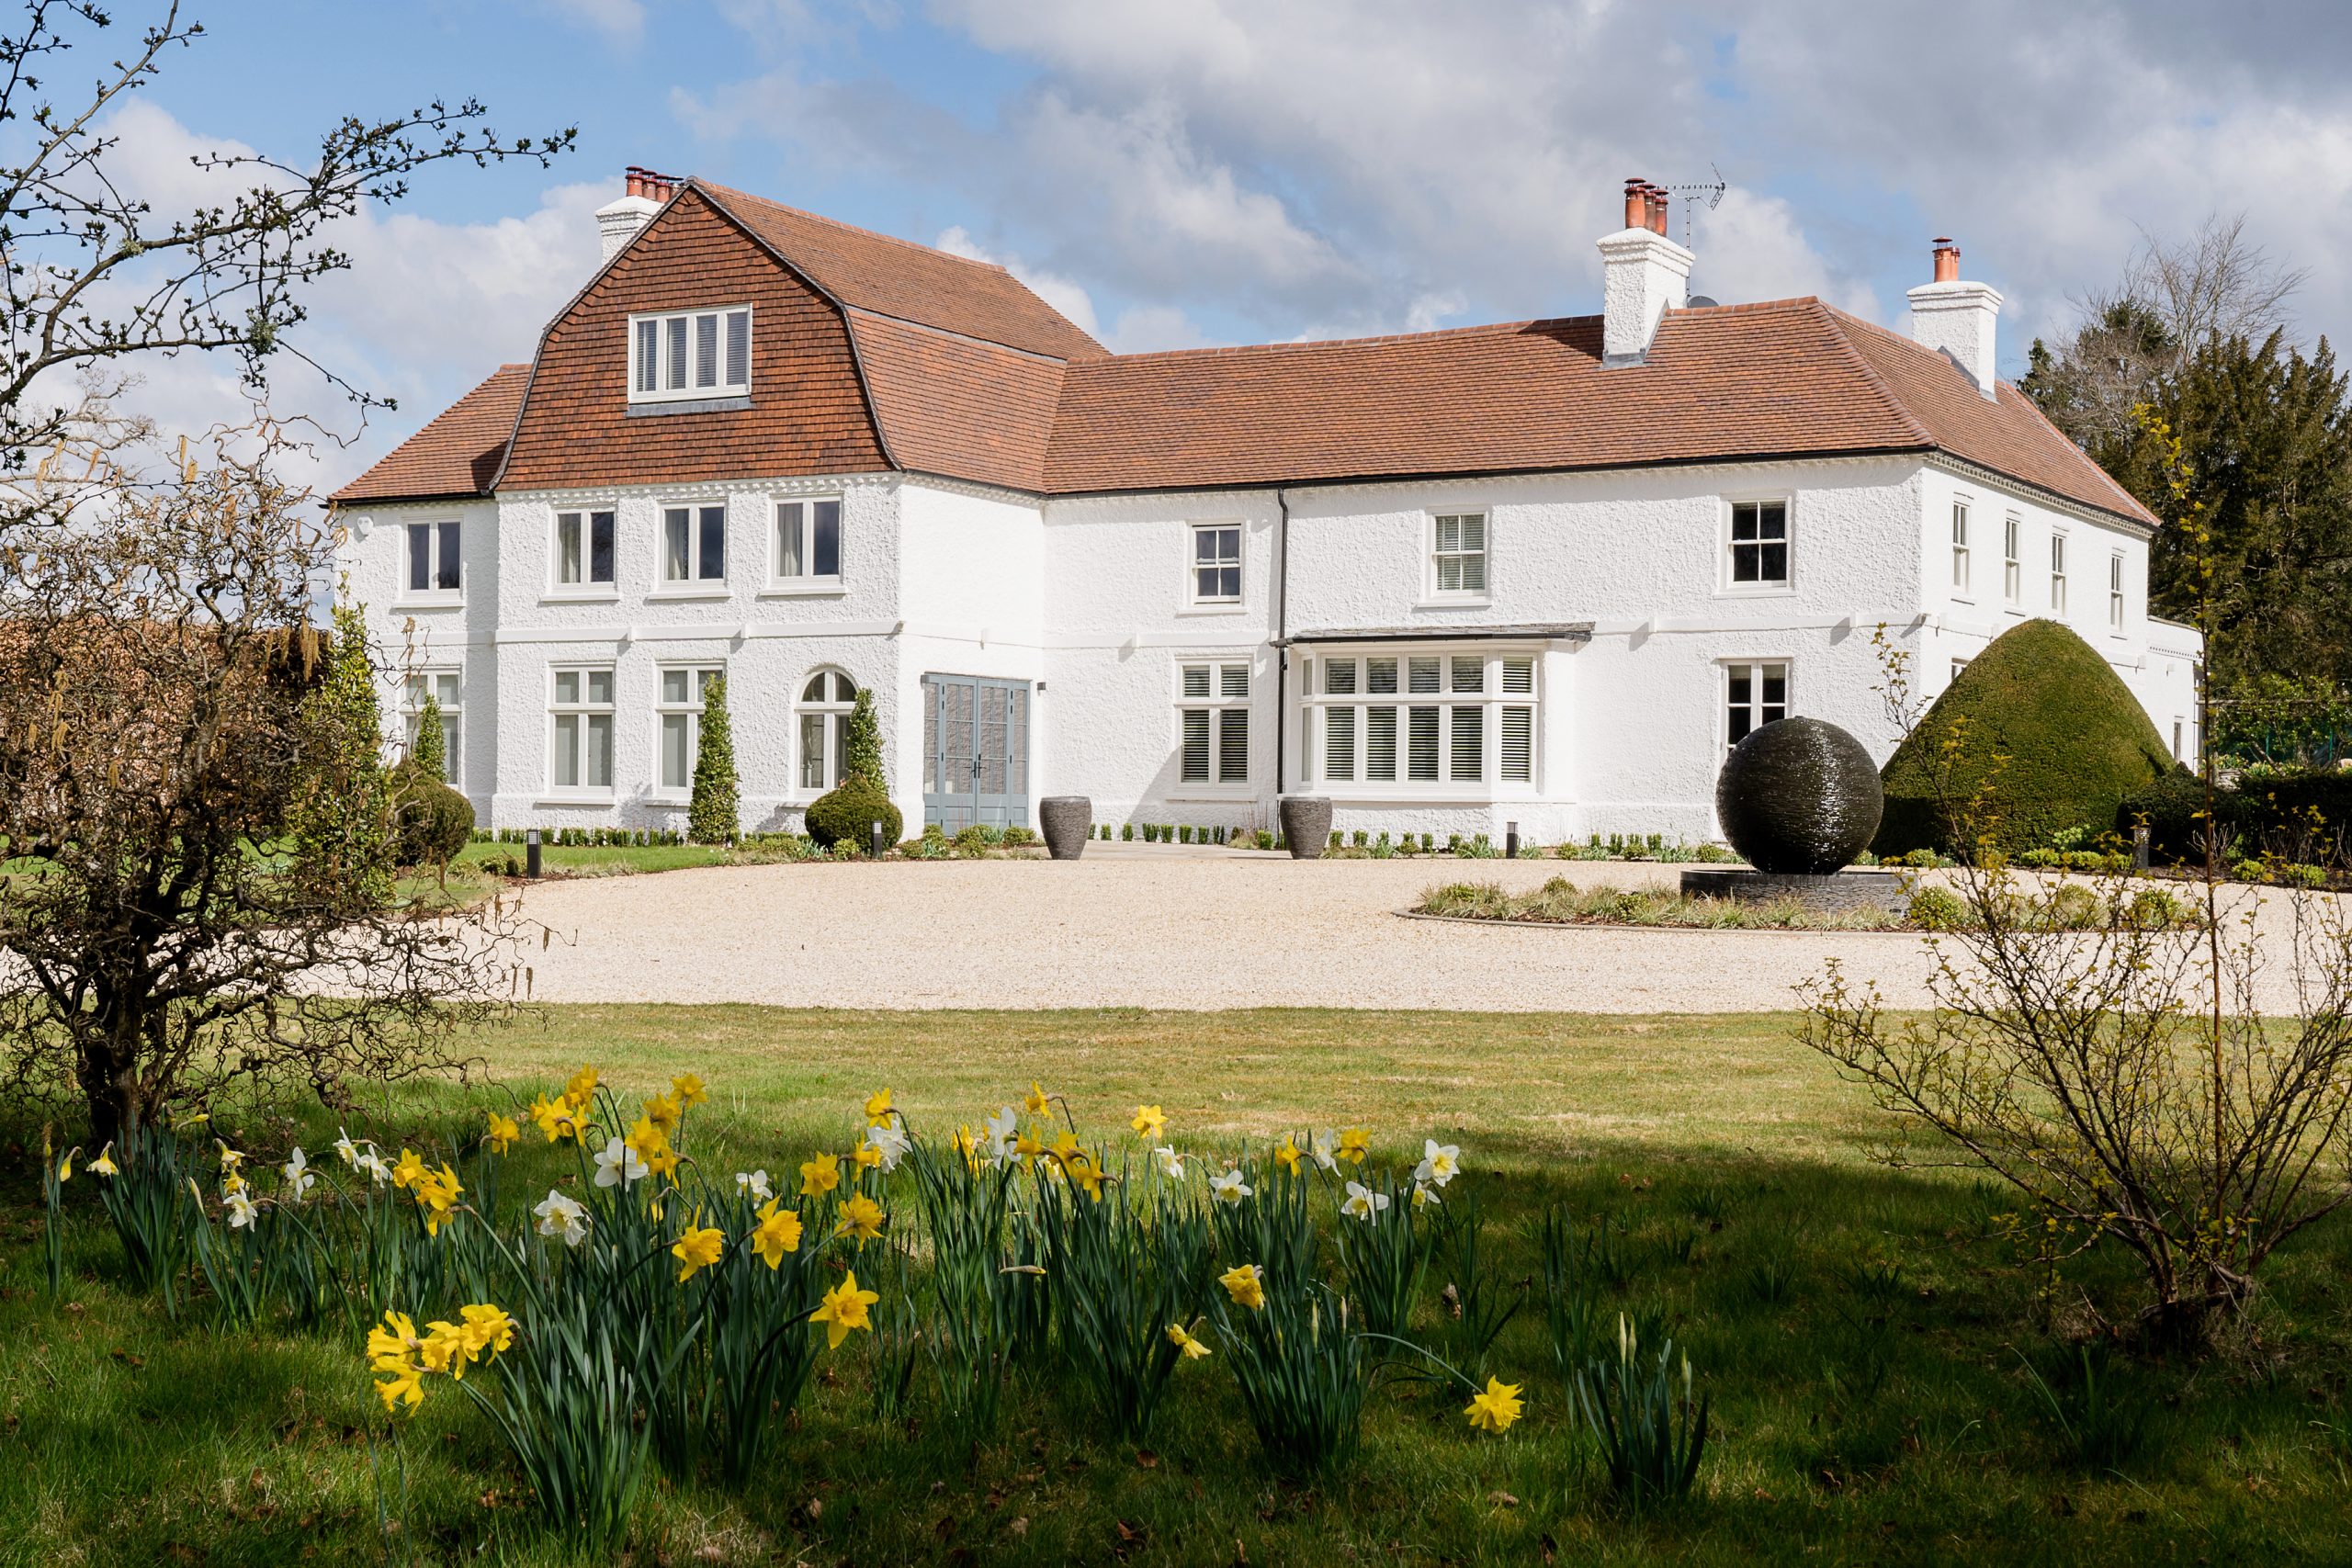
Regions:
[[[327, 524], [268, 428], [162, 482], [136, 435], [47, 461], [0, 545], [0, 1091], [111, 1138], [228, 1079], [447, 1067], [513, 994], [513, 919], [393, 896], [374, 705], [318, 701]], [[334, 799], [353, 832], [289, 832]]]

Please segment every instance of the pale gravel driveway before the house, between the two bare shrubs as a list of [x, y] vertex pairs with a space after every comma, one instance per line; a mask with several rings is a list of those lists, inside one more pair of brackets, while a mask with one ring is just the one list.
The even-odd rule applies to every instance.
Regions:
[[[1110, 846], [1098, 846], [1110, 849]], [[548, 882], [522, 912], [541, 1001], [847, 1009], [1364, 1006], [1722, 1013], [1792, 1006], [1828, 957], [1896, 1006], [1917, 938], [1835, 931], [1524, 929], [1397, 919], [1437, 882], [1670, 884], [1675, 865], [1289, 860], [757, 865]]]

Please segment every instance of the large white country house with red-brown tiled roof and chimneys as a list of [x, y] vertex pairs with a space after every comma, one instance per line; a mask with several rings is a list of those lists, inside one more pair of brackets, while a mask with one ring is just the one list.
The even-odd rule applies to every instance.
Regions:
[[[1910, 336], [1686, 296], [1665, 193], [1599, 315], [1112, 355], [1007, 270], [633, 169], [604, 263], [343, 487], [350, 595], [501, 827], [677, 827], [724, 672], [743, 827], [837, 780], [875, 693], [915, 823], [1715, 835], [1809, 712], [1879, 757], [2027, 616], [2192, 755], [2154, 520], [1994, 378], [1938, 242]], [[412, 719], [414, 722], [414, 719]]]

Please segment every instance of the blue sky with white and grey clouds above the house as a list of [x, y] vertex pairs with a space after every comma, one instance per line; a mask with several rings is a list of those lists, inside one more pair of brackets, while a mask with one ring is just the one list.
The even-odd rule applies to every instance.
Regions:
[[[209, 14], [207, 14], [209, 12]], [[1693, 287], [1903, 327], [1929, 237], [2004, 289], [2002, 364], [2213, 212], [2352, 303], [2352, 7], [1980, 0], [238, 0], [118, 127], [294, 153], [346, 110], [477, 96], [555, 169], [440, 169], [350, 235], [315, 348], [393, 393], [334, 482], [499, 360], [595, 263], [623, 165], [703, 174], [1004, 261], [1122, 350], [1597, 308], [1628, 174], [1722, 169]], [[122, 7], [136, 24], [139, 7]], [[78, 73], [71, 73], [78, 75]], [[176, 160], [176, 162], [174, 162]], [[1684, 219], [1677, 216], [1677, 237]], [[221, 386], [158, 367], [198, 418]], [[303, 397], [303, 388], [282, 388]]]

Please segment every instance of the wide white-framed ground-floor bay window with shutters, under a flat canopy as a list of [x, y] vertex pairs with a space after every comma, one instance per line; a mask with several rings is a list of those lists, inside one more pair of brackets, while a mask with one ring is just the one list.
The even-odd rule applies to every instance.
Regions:
[[[1437, 661], [1435, 689], [1414, 691], [1414, 663]], [[1395, 661], [1395, 686], [1374, 689], [1374, 668]], [[1456, 663], [1458, 661], [1458, 663]], [[1470, 672], [1475, 665], [1475, 672]], [[1465, 679], [1465, 672], [1470, 679]], [[1343, 679], [1334, 679], [1343, 675]], [[1338, 684], [1343, 689], [1334, 691]], [[1301, 672], [1303, 773], [1317, 795], [1350, 802], [1496, 802], [1543, 790], [1543, 646], [1522, 642], [1362, 642], [1317, 649]], [[1414, 710], [1435, 712], [1435, 778], [1414, 776]], [[1388, 712], [1390, 776], [1371, 776], [1374, 715]], [[1456, 717], [1456, 715], [1468, 717]], [[1503, 745], [1524, 712], [1526, 778], [1503, 778]], [[1345, 717], [1345, 771], [1334, 769], [1334, 715]], [[1477, 736], [1477, 773], [1463, 776], [1461, 743]]]

